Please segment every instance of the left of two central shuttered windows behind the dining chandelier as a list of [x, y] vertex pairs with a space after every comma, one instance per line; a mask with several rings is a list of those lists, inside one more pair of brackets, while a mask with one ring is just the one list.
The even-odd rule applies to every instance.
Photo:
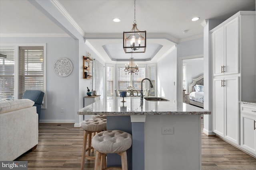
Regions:
[[[118, 67], [118, 90], [127, 90], [127, 86], [130, 86], [130, 74], [124, 71], [124, 67]], [[127, 73], [127, 74], [126, 74]]]

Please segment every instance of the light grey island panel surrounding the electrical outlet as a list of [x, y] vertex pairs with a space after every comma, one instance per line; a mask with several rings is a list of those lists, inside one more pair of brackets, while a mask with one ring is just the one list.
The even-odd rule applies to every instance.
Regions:
[[[145, 170], [201, 170], [200, 115], [147, 115]], [[173, 127], [173, 135], [162, 135]]]

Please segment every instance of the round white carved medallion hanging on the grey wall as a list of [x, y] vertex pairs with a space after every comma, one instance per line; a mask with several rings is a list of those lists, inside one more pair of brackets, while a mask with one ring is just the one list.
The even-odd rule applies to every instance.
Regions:
[[68, 58], [59, 58], [54, 63], [54, 71], [58, 76], [69, 76], [73, 71], [73, 64]]

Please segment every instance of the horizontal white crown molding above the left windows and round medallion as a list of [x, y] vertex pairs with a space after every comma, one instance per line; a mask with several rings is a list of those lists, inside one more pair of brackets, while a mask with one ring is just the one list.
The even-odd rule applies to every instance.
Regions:
[[0, 37], [70, 37], [66, 33], [0, 33]]

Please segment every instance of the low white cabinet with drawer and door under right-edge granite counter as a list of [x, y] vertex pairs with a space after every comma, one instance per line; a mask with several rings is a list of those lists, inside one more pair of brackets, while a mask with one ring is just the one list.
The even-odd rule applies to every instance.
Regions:
[[256, 106], [241, 104], [241, 147], [256, 156]]

